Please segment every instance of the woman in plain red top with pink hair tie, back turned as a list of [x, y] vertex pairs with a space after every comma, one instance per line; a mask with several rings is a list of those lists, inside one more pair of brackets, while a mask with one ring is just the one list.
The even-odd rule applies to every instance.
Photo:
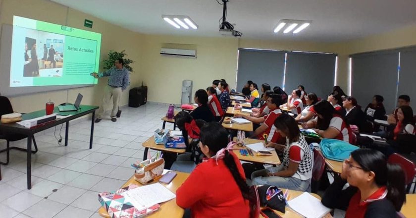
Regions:
[[227, 146], [227, 131], [219, 123], [207, 123], [200, 140], [208, 160], [198, 164], [178, 188], [176, 204], [190, 208], [192, 218], [249, 218], [250, 188], [240, 161]]

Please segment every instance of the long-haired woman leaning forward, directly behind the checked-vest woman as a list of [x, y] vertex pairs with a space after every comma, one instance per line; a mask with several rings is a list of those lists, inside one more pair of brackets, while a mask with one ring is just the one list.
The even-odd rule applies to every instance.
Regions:
[[322, 138], [338, 139], [351, 144], [355, 144], [356, 136], [350, 125], [332, 107], [331, 103], [321, 100], [313, 106], [316, 111], [316, 118], [302, 124], [303, 128], [315, 128]]

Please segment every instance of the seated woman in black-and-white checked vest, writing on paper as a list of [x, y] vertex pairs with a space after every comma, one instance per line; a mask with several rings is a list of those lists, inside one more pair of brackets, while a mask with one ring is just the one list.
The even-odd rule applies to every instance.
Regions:
[[252, 173], [253, 185], [274, 185], [297, 191], [311, 191], [313, 153], [305, 137], [299, 131], [298, 123], [287, 113], [274, 121], [276, 132], [286, 137], [286, 145], [269, 143], [283, 152], [283, 163]]

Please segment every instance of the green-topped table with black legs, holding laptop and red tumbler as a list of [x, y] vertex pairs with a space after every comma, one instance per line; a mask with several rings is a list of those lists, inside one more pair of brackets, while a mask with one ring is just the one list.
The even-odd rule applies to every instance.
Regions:
[[[93, 135], [94, 135], [94, 118], [95, 118], [95, 111], [99, 107], [97, 106], [88, 106], [88, 105], [80, 105], [77, 111], [66, 111], [60, 112], [57, 107], [53, 109], [54, 113], [58, 113], [61, 115], [70, 115], [63, 119], [56, 119], [50, 122], [46, 122], [32, 128], [26, 128], [22, 125], [17, 123], [0, 123], [0, 130], [5, 130], [10, 134], [22, 134], [27, 136], [27, 189], [32, 188], [32, 137], [35, 133], [43, 131], [45, 129], [49, 129], [55, 127], [59, 124], [66, 123], [65, 125], [65, 146], [68, 145], [68, 131], [69, 131], [69, 121], [76, 119], [81, 116], [85, 116], [87, 114], [92, 113], [93, 116], [91, 118], [91, 133], [90, 133], [90, 149], [93, 148]], [[23, 114], [22, 120], [33, 119], [37, 117], [41, 117], [46, 115], [46, 111], [38, 110], [30, 113]]]

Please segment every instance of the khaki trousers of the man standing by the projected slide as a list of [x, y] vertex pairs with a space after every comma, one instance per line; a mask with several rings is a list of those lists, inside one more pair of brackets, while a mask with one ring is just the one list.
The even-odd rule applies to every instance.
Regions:
[[100, 107], [100, 109], [98, 109], [98, 118], [102, 119], [104, 116], [104, 112], [111, 107], [111, 97], [112, 97], [113, 108], [111, 110], [110, 116], [111, 118], [116, 117], [122, 93], [123, 91], [121, 91], [121, 87], [114, 88], [111, 86], [107, 86], [105, 88], [103, 105]]

